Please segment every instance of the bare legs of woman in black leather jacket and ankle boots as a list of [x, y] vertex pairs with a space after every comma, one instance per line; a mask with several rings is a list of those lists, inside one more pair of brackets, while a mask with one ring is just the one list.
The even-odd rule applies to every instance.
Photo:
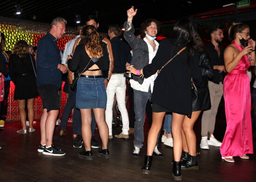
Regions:
[[186, 142], [183, 143], [183, 150], [185, 152], [189, 152], [190, 156], [196, 156], [196, 137], [193, 127], [200, 113], [201, 110], [192, 112], [191, 118], [185, 116], [182, 124], [182, 130], [184, 132], [182, 138], [185, 136], [185, 138], [183, 138], [183, 141], [185, 139], [184, 142]]

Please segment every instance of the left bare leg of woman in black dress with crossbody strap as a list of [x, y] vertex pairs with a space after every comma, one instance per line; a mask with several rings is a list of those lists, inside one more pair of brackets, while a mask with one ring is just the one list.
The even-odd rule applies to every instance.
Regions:
[[148, 131], [148, 148], [147, 148], [147, 156], [152, 156], [153, 151], [155, 149], [156, 140], [159, 131], [162, 128], [162, 121], [163, 117], [165, 115], [165, 112], [152, 112], [152, 125]]

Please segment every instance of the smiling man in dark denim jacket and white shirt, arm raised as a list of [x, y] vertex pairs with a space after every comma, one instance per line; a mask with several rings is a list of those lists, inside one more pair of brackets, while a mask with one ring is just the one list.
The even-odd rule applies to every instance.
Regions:
[[[152, 62], [158, 49], [158, 42], [155, 40], [156, 34], [159, 31], [159, 22], [155, 19], [148, 19], [141, 24], [141, 39], [134, 35], [135, 29], [132, 25], [132, 20], [137, 9], [131, 7], [127, 11], [128, 20], [124, 23], [125, 32], [124, 38], [128, 44], [133, 48], [133, 57], [131, 65], [136, 69], [141, 69], [145, 65]], [[141, 148], [144, 142], [143, 125], [145, 122], [145, 108], [148, 100], [150, 100], [154, 81], [157, 76], [150, 76], [149, 78], [140, 78], [134, 76], [130, 80], [131, 87], [134, 89], [134, 110], [135, 110], [135, 126], [134, 126], [134, 150], [133, 157], [139, 157]], [[155, 146], [153, 156], [162, 158], [162, 153]]]

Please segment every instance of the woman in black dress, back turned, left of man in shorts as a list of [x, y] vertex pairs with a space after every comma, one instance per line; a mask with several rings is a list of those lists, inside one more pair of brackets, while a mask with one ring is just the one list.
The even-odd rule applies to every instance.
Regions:
[[34, 57], [28, 53], [25, 40], [19, 40], [13, 47], [9, 60], [9, 74], [15, 85], [14, 99], [18, 100], [22, 129], [17, 133], [27, 134], [25, 100], [27, 100], [28, 132], [34, 132], [34, 97], [38, 96], [36, 88], [36, 66]]

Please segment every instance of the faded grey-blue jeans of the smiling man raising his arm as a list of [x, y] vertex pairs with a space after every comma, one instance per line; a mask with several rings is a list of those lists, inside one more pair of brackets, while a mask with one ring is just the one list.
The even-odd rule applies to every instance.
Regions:
[[145, 122], [146, 104], [151, 98], [151, 89], [148, 92], [134, 90], [134, 146], [142, 148], [144, 142], [143, 126]]

